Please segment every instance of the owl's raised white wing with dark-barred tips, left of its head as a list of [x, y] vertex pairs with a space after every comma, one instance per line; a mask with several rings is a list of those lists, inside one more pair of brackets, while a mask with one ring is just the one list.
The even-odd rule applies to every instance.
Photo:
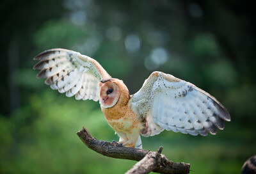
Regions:
[[34, 59], [39, 62], [33, 68], [41, 70], [36, 77], [77, 100], [99, 100], [100, 79], [111, 77], [95, 59], [67, 49], [49, 49]]

